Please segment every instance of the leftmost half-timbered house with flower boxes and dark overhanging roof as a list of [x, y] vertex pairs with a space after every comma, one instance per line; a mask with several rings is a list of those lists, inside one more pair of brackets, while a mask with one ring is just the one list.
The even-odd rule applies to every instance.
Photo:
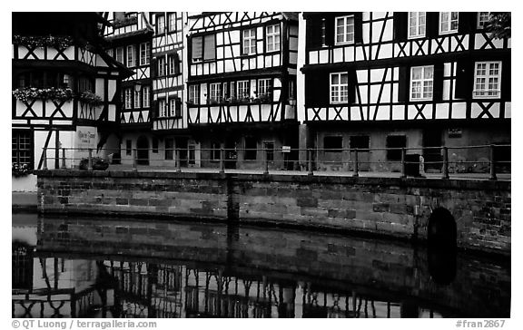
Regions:
[[[88, 149], [105, 157], [117, 147], [120, 82], [130, 73], [104, 52], [106, 24], [96, 13], [13, 13], [14, 166], [59, 168], [64, 156], [77, 166]], [[13, 189], [35, 189], [35, 177]]]

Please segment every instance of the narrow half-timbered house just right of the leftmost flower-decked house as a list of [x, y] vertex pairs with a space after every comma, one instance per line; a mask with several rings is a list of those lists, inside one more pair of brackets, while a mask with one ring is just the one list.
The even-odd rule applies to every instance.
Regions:
[[[121, 159], [131, 164], [133, 157], [138, 163], [148, 165], [152, 148], [152, 43], [154, 27], [150, 13], [106, 12], [109, 25], [104, 38], [109, 44], [107, 51], [114, 60], [123, 63], [133, 75], [122, 82], [120, 113]], [[137, 150], [137, 154], [133, 154]]]

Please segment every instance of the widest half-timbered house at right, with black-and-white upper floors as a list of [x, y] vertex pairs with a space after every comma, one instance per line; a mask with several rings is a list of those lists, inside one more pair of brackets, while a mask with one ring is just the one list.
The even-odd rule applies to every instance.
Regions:
[[[510, 39], [485, 29], [488, 13], [305, 13], [301, 141], [319, 168], [399, 170], [400, 150], [510, 142]], [[369, 152], [369, 148], [383, 148]], [[440, 150], [420, 153], [438, 168]], [[475, 170], [488, 149], [451, 150]], [[498, 160], [509, 150], [499, 149]], [[470, 161], [467, 163], [466, 161]]]

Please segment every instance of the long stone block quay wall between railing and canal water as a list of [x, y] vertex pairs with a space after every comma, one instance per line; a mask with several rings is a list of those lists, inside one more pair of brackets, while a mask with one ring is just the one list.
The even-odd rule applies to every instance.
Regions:
[[510, 254], [508, 181], [419, 178], [38, 171], [42, 214], [218, 220], [427, 239], [447, 209], [459, 248]]

